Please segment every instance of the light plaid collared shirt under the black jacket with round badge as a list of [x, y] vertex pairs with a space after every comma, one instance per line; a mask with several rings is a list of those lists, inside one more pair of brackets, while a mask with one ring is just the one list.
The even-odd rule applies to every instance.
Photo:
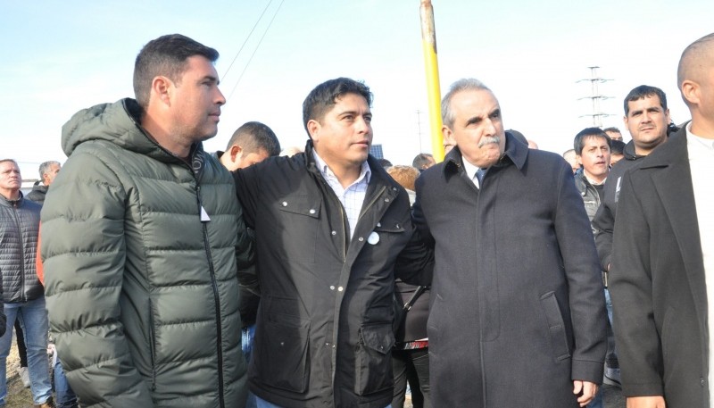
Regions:
[[329, 170], [328, 164], [322, 160], [318, 152], [313, 150], [312, 154], [315, 156], [315, 162], [318, 165], [318, 169], [320, 169], [320, 174], [328, 182], [329, 187], [332, 188], [332, 191], [335, 192], [335, 195], [345, 208], [347, 222], [350, 224], [350, 239], [352, 239], [354, 227], [357, 226], [357, 221], [360, 219], [364, 197], [367, 195], [367, 185], [369, 185], [369, 179], [372, 177], [369, 164], [366, 161], [362, 162], [360, 177], [354, 180], [347, 188], [343, 188], [340, 180], [337, 179], [335, 173]]

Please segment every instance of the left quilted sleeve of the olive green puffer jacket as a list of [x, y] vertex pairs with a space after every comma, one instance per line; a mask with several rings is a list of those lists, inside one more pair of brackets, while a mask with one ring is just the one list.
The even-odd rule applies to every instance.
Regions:
[[43, 209], [42, 258], [50, 329], [82, 404], [153, 406], [120, 321], [127, 192], [94, 151], [78, 148]]

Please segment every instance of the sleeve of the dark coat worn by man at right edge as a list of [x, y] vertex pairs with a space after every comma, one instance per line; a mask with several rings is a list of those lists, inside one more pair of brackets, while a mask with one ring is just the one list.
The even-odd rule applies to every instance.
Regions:
[[629, 176], [623, 176], [618, 204], [618, 218], [627, 222], [618, 223], [615, 231], [610, 272], [622, 390], [626, 396], [662, 396], [664, 362], [652, 304], [650, 226]]

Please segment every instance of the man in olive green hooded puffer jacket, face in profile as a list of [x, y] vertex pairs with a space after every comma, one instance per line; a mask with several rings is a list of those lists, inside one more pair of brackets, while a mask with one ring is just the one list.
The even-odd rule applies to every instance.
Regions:
[[242, 407], [237, 271], [253, 262], [233, 179], [203, 152], [218, 52], [164, 36], [137, 99], [76, 113], [42, 212], [50, 329], [84, 407]]

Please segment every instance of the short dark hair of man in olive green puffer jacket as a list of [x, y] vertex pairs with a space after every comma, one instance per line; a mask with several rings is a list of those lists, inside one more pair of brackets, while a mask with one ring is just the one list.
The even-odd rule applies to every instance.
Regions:
[[218, 60], [218, 51], [180, 34], [170, 34], [149, 41], [134, 62], [134, 96], [142, 109], [149, 105], [151, 84], [163, 75], [174, 82], [186, 71], [187, 59], [202, 55], [210, 62]]

